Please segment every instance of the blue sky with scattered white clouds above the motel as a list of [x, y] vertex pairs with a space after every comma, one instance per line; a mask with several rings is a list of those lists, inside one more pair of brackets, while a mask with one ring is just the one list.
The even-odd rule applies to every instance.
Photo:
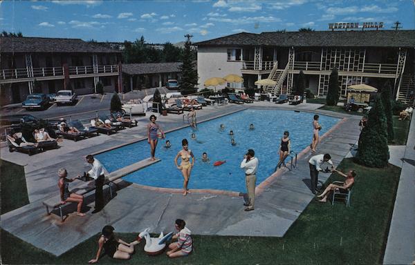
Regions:
[[0, 30], [25, 37], [177, 43], [238, 32], [329, 30], [329, 23], [400, 21], [415, 29], [415, 0], [1, 1]]

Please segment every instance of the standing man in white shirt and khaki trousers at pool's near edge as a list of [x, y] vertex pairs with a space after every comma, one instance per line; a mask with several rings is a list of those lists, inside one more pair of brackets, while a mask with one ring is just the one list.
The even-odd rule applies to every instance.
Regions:
[[255, 157], [255, 152], [252, 149], [248, 150], [246, 155], [243, 155], [241, 168], [245, 170], [246, 190], [248, 191], [248, 202], [243, 204], [247, 206], [246, 212], [254, 210], [255, 205], [255, 182], [257, 181], [258, 159]]

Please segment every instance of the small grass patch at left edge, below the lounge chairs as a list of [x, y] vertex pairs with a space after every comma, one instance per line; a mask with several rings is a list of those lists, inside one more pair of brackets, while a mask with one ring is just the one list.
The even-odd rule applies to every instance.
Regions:
[[24, 167], [0, 159], [0, 174], [1, 214], [28, 204]]

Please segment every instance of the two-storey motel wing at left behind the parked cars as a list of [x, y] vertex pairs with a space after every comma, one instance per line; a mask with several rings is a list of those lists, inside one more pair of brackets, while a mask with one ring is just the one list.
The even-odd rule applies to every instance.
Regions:
[[17, 103], [33, 92], [64, 88], [78, 95], [118, 87], [122, 53], [82, 39], [0, 37], [1, 104]]

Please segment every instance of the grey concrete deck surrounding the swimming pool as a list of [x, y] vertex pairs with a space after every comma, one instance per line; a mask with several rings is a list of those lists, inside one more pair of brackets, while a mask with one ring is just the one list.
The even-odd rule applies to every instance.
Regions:
[[[337, 165], [358, 141], [360, 117], [316, 110], [320, 106], [278, 105], [259, 101], [254, 104], [208, 106], [198, 110], [197, 117], [201, 122], [243, 108], [300, 110], [344, 117], [322, 137], [317, 148], [317, 154], [330, 153], [333, 163]], [[311, 152], [306, 148], [299, 154], [297, 168], [292, 173], [287, 169], [279, 170], [276, 175], [267, 179], [267, 185], [257, 186], [255, 210], [249, 213], [243, 211], [243, 194], [229, 196], [226, 193], [212, 194], [201, 190], [183, 197], [180, 190], [154, 190], [120, 180], [119, 189], [113, 199], [109, 200], [108, 190], [104, 191], [107, 204], [100, 213], [91, 214], [91, 194], [86, 197], [85, 217], [71, 214], [61, 222], [57, 215], [46, 215], [42, 201], [58, 194], [58, 168], [67, 168], [69, 177], [89, 170], [89, 165], [84, 161], [85, 155], [145, 139], [147, 122], [148, 117], [142, 118], [137, 127], [121, 130], [115, 135], [100, 135], [77, 142], [64, 140], [59, 143], [62, 148], [48, 150], [42, 155], [32, 157], [21, 153], [9, 153], [6, 148], [1, 148], [1, 159], [24, 166], [30, 201], [30, 204], [24, 207], [1, 215], [1, 228], [53, 255], [62, 255], [100, 232], [107, 224], [111, 224], [121, 233], [139, 233], [147, 227], [151, 228], [151, 232], [159, 233], [173, 230], [173, 222], [177, 218], [185, 219], [192, 233], [199, 235], [282, 237], [314, 198], [308, 188], [308, 159]], [[165, 131], [186, 126], [183, 123], [183, 115], [174, 114], [158, 117], [158, 123]], [[243, 175], [242, 171], [240, 173]], [[324, 183], [328, 177], [329, 174], [320, 173], [319, 180]], [[72, 206], [67, 208], [70, 207]], [[75, 205], [73, 207], [75, 208]]]

